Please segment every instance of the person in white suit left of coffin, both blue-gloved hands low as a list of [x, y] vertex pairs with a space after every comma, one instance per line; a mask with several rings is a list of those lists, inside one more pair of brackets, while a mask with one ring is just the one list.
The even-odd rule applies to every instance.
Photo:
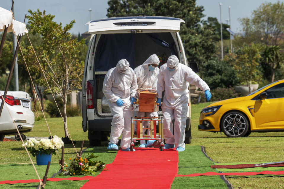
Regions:
[[[131, 117], [133, 116], [134, 96], [137, 90], [136, 75], [126, 59], [118, 61], [115, 68], [105, 75], [102, 91], [108, 101], [113, 120], [111, 122], [110, 142], [107, 149], [118, 150], [118, 137], [121, 149], [130, 151]], [[134, 150], [135, 151], [135, 150]]]

